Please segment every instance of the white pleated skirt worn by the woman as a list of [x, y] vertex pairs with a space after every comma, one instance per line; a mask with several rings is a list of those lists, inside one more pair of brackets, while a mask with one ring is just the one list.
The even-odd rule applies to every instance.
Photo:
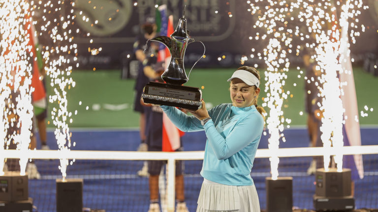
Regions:
[[204, 179], [197, 212], [260, 212], [254, 185], [223, 185]]

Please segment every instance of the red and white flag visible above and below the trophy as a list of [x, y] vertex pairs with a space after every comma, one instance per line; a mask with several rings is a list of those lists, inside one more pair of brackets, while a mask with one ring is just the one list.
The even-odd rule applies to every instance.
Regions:
[[[167, 5], [163, 4], [158, 7], [156, 15], [157, 26], [160, 26], [158, 31], [160, 35], [170, 36], [173, 32], [173, 16], [167, 16]], [[167, 68], [171, 59], [171, 54], [164, 46], [164, 44], [159, 44], [158, 51], [158, 62], [164, 61], [165, 67]], [[181, 147], [180, 137], [184, 135], [176, 126], [169, 120], [168, 116], [163, 113], [163, 133], [162, 133], [162, 151], [164, 152], [174, 152]]]

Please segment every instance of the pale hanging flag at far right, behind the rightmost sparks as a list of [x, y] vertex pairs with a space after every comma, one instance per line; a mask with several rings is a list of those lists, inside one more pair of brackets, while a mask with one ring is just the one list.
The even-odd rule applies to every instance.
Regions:
[[[350, 60], [350, 51], [348, 48], [348, 27], [342, 27], [341, 34], [341, 53], [340, 63], [344, 69], [343, 73], [340, 73], [339, 79], [342, 83], [347, 83], [342, 87], [344, 95], [341, 96], [343, 102], [344, 120], [343, 125], [343, 141], [344, 146], [361, 146], [361, 134], [360, 124], [357, 108], [357, 96], [354, 85], [353, 69]], [[364, 166], [362, 162], [362, 155], [347, 155], [343, 157], [344, 167], [351, 169], [352, 179], [357, 180], [364, 177]]]

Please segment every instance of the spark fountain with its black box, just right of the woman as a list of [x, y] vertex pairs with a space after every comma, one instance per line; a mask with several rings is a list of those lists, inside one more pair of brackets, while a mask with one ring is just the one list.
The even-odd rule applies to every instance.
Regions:
[[[292, 208], [292, 178], [278, 178], [278, 164], [280, 159], [277, 156], [279, 149], [280, 139], [285, 141], [284, 134], [284, 112], [282, 106], [284, 100], [287, 99], [290, 91], [284, 92], [285, 79], [287, 78], [285, 72], [288, 71], [290, 62], [288, 60], [287, 53], [291, 53], [291, 41], [292, 38], [288, 36], [288, 32], [284, 31], [287, 26], [285, 21], [285, 13], [287, 13], [287, 7], [284, 8], [285, 1], [277, 3], [276, 1], [268, 0], [265, 2], [251, 3], [252, 15], [258, 13], [257, 21], [253, 27], [262, 28], [266, 34], [262, 36], [256, 33], [255, 39], [268, 40], [266, 48], [263, 49], [263, 53], [258, 54], [259, 59], [263, 59], [267, 65], [267, 71], [265, 71], [265, 92], [266, 97], [262, 106], [268, 106], [269, 112], [266, 119], [267, 129], [270, 134], [268, 139], [269, 150], [271, 151], [271, 178], [266, 178], [266, 195], [267, 195], [267, 211], [291, 211]], [[278, 4], [278, 5], [274, 5]], [[275, 6], [277, 9], [275, 9]], [[281, 9], [279, 9], [281, 7]], [[261, 8], [266, 10], [262, 12]], [[286, 122], [290, 123], [289, 119]], [[281, 188], [281, 192], [277, 192], [276, 189]], [[284, 188], [284, 190], [282, 190]], [[280, 193], [281, 196], [278, 196]], [[280, 207], [280, 208], [278, 208]]]

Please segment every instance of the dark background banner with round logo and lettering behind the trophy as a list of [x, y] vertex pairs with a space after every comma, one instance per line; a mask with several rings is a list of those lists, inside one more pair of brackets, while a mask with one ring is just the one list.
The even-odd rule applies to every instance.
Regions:
[[[247, 1], [236, 0], [74, 0], [76, 15], [73, 30], [79, 28], [74, 37], [78, 44], [78, 58], [81, 69], [118, 69], [129, 55], [132, 58], [132, 44], [140, 34], [147, 16], [155, 17], [157, 6], [166, 4], [167, 14], [173, 15], [173, 26], [177, 26], [187, 4], [186, 18], [190, 36], [206, 46], [206, 57], [198, 67], [238, 66], [242, 56], [246, 64], [259, 63], [251, 58], [252, 48], [261, 49], [266, 40], [255, 40], [252, 36], [253, 17], [248, 11]], [[90, 3], [89, 3], [90, 2]], [[360, 16], [366, 29], [352, 45], [355, 62], [361, 62], [365, 53], [377, 54], [378, 33], [376, 1], [371, 1], [370, 12]], [[62, 9], [62, 13], [65, 13]], [[298, 25], [300, 25], [298, 23]], [[367, 39], [369, 38], [369, 39]], [[375, 39], [373, 39], [375, 38]], [[42, 39], [41, 39], [42, 40]], [[300, 44], [300, 43], [298, 43]], [[101, 49], [100, 49], [101, 48]], [[203, 47], [199, 43], [188, 46], [185, 64], [191, 66], [201, 57]], [[301, 64], [300, 56], [291, 55], [291, 64]]]

